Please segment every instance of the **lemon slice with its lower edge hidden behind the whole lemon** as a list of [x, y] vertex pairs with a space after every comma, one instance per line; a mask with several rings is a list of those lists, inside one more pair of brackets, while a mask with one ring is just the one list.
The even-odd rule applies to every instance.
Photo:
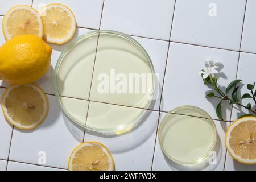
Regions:
[[22, 34], [33, 34], [40, 38], [44, 35], [43, 22], [38, 11], [27, 5], [18, 5], [7, 11], [2, 27], [6, 40]]

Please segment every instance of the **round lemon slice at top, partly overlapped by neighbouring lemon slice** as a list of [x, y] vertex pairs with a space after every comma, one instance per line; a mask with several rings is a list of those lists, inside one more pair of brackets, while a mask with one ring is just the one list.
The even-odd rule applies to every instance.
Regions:
[[76, 18], [65, 5], [51, 4], [40, 10], [44, 23], [44, 38], [49, 43], [64, 44], [76, 32]]

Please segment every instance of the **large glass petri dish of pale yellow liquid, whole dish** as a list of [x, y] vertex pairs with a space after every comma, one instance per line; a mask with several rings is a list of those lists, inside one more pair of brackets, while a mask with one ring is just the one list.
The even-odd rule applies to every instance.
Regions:
[[122, 134], [138, 125], [152, 104], [155, 73], [150, 56], [136, 40], [98, 30], [64, 49], [54, 84], [69, 120], [89, 130]]

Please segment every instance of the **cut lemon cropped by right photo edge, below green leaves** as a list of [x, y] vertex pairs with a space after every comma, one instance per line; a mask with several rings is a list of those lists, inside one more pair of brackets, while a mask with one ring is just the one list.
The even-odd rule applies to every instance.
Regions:
[[226, 132], [225, 146], [240, 163], [256, 164], [256, 117], [237, 119]]

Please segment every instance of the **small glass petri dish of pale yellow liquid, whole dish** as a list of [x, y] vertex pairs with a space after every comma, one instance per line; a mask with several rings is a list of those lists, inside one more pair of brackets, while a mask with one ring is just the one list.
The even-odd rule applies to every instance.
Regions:
[[170, 111], [159, 126], [163, 153], [173, 162], [188, 165], [203, 162], [214, 150], [217, 130], [213, 119], [195, 106]]

